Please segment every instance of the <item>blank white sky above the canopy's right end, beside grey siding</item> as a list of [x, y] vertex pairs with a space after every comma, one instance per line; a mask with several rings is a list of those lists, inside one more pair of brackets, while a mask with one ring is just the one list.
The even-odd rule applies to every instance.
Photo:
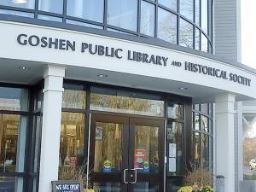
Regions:
[[256, 68], [255, 12], [255, 0], [241, 0], [241, 62], [253, 68]]

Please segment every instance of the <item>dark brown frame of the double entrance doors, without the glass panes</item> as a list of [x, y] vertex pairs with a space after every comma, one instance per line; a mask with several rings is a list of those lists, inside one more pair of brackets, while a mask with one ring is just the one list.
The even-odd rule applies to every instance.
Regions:
[[[104, 173], [104, 172], [93, 172], [93, 164], [95, 160], [95, 134], [96, 134], [96, 121], [104, 122], [104, 123], [119, 123], [123, 125], [122, 130], [122, 166], [121, 171], [118, 173]], [[159, 191], [164, 191], [165, 186], [165, 119], [159, 118], [156, 119], [155, 117], [143, 117], [143, 116], [137, 116], [134, 115], [119, 115], [119, 113], [91, 113], [90, 115], [90, 155], [89, 155], [89, 163], [88, 165], [92, 169], [90, 171], [90, 180], [91, 183], [117, 183], [120, 182], [121, 185], [121, 191], [132, 191], [132, 186], [134, 184], [125, 184], [124, 183], [124, 172], [125, 169], [131, 169], [133, 168], [133, 160], [134, 160], [134, 141], [135, 141], [135, 125], [150, 125], [150, 126], [156, 126], [160, 127], [159, 129], [159, 163], [160, 168], [158, 173], [150, 173], [149, 174], [143, 174], [143, 173], [137, 173], [137, 179], [138, 182], [155, 182], [156, 180], [159, 183]], [[127, 137], [128, 136], [128, 137]], [[131, 142], [129, 139], [132, 138], [133, 142]], [[130, 143], [131, 142], [131, 143]], [[132, 146], [129, 146], [129, 145]], [[130, 150], [130, 148], [133, 148], [133, 150]], [[129, 152], [129, 153], [128, 153]], [[129, 160], [131, 159], [131, 160]], [[129, 164], [129, 165], [128, 165]], [[127, 177], [126, 172], [126, 177]], [[107, 180], [106, 180], [106, 176]], [[121, 179], [120, 179], [121, 178]]]

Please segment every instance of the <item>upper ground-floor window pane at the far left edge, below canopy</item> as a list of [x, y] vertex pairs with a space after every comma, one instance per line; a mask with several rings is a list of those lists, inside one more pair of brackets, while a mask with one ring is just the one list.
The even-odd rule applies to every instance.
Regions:
[[27, 102], [27, 90], [0, 87], [0, 110], [27, 111]]

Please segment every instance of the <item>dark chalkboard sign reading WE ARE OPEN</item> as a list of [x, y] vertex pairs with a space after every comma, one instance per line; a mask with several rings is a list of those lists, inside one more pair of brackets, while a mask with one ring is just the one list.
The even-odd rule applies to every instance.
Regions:
[[83, 185], [79, 181], [52, 181], [52, 192], [83, 192]]

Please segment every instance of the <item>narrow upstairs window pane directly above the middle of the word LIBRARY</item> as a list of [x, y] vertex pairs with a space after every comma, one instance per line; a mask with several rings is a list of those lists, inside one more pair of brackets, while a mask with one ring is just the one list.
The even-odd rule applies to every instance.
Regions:
[[141, 32], [143, 34], [154, 36], [154, 17], [155, 6], [154, 4], [142, 1], [141, 10]]

